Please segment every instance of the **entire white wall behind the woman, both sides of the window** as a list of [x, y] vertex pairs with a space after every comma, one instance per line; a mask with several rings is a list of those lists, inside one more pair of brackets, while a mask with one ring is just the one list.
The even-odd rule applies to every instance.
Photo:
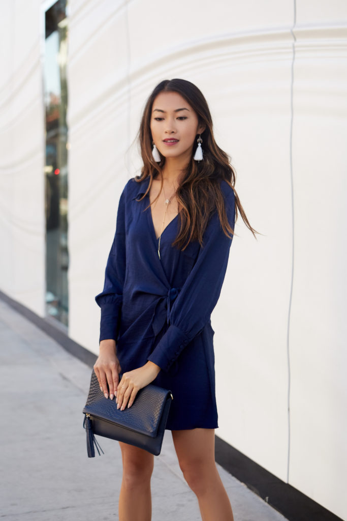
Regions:
[[[28, 155], [42, 162], [42, 90], [39, 80], [29, 82], [33, 75], [24, 81], [31, 100], [24, 115], [30, 113], [36, 131], [19, 139], [22, 97], [11, 85], [22, 78], [21, 64], [28, 67], [31, 36], [19, 32], [27, 3], [16, 10], [6, 4], [12, 18], [2, 39], [18, 58], [2, 56], [0, 142], [9, 141], [0, 156], [0, 239], [10, 256], [2, 256], [0, 289], [43, 314], [43, 163], [28, 175], [25, 162]], [[31, 61], [38, 78], [35, 7]], [[143, 0], [71, 0], [69, 9], [71, 338], [97, 352], [94, 296], [104, 281], [119, 195], [138, 173], [132, 142], [146, 98], [162, 79], [193, 81], [209, 102], [217, 142], [232, 156], [251, 224], [262, 233], [255, 241], [242, 222], [236, 226], [212, 316], [217, 435], [347, 517], [347, 4], [217, 0], [212, 7], [177, 0], [168, 11], [154, 0], [149, 17]], [[25, 169], [25, 190], [14, 182], [17, 169]], [[28, 261], [32, 228], [40, 233]]]

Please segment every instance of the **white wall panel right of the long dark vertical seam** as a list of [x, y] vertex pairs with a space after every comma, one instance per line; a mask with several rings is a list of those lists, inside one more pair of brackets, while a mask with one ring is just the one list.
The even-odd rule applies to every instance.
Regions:
[[319, 4], [294, 31], [289, 481], [347, 518], [347, 4]]

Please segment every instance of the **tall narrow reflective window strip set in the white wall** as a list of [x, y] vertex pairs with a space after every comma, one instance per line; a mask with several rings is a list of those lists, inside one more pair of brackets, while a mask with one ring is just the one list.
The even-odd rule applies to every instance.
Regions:
[[68, 326], [67, 0], [45, 14], [46, 313]]

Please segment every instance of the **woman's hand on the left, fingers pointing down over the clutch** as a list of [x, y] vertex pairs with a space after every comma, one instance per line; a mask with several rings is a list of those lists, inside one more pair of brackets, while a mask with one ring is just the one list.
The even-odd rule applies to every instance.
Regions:
[[109, 396], [109, 389], [110, 399], [112, 400], [117, 393], [118, 375], [121, 372], [121, 366], [116, 355], [115, 340], [101, 340], [100, 353], [94, 364], [94, 371], [105, 398]]

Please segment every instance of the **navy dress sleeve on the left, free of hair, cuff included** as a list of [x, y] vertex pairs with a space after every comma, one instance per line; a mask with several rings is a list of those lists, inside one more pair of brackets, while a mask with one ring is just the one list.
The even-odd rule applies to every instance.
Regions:
[[105, 270], [104, 289], [96, 295], [95, 301], [101, 308], [101, 340], [117, 340], [122, 306], [123, 283], [125, 277], [125, 195], [120, 197], [117, 225]]

